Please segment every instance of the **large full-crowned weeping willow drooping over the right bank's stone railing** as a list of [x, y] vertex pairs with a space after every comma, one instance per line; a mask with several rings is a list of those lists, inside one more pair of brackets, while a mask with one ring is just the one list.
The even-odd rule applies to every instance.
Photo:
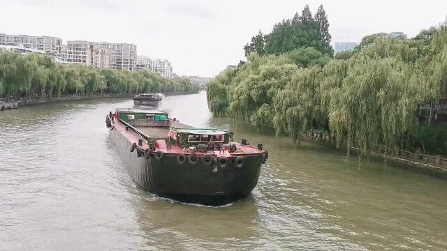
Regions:
[[346, 137], [348, 153], [354, 143], [363, 154], [378, 144], [395, 149], [418, 124], [422, 100], [413, 73], [400, 59], [371, 59], [353, 66], [331, 91], [330, 130], [337, 142]]

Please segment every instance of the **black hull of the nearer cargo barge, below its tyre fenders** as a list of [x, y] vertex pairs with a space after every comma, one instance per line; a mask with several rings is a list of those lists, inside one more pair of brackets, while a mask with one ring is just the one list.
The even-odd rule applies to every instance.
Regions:
[[148, 159], [144, 154], [139, 157], [137, 150], [130, 151], [134, 142], [118, 130], [111, 130], [110, 136], [133, 181], [161, 197], [219, 206], [246, 197], [258, 183], [261, 155], [244, 157], [242, 167], [235, 167], [232, 159], [225, 167], [207, 164], [201, 158], [196, 164], [189, 159], [180, 164], [174, 154], [166, 154], [161, 160], [153, 154]]

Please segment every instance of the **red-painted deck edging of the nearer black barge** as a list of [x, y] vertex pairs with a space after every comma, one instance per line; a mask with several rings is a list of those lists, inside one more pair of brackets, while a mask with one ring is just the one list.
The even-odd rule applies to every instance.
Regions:
[[[137, 135], [132, 130], [126, 130], [126, 126], [124, 126], [122, 123], [119, 123], [119, 121], [115, 120], [115, 123], [112, 123], [112, 126], [115, 126], [115, 130], [118, 130], [124, 137], [126, 137], [127, 140], [131, 143], [138, 144], [138, 139], [142, 139], [140, 135]], [[168, 137], [168, 135], [166, 135]], [[177, 153], [177, 154], [185, 154], [189, 155], [191, 153], [196, 153], [197, 155], [203, 155], [203, 154], [211, 154], [215, 155], [217, 157], [230, 157], [230, 156], [240, 156], [240, 155], [258, 155], [258, 154], [264, 154], [265, 151], [258, 150], [255, 146], [247, 146], [242, 144], [237, 144], [237, 150], [234, 153], [230, 153], [228, 151], [228, 147], [221, 151], [207, 151], [207, 153], [201, 153], [196, 151], [188, 151], [180, 149], [179, 146], [173, 145], [171, 149], [168, 149], [166, 146], [166, 142], [163, 140], [157, 140], [157, 148], [156, 151], [162, 151], [163, 153]], [[145, 149], [149, 148], [149, 145], [147, 142], [143, 139], [142, 146], [139, 146], [140, 149], [145, 151]]]

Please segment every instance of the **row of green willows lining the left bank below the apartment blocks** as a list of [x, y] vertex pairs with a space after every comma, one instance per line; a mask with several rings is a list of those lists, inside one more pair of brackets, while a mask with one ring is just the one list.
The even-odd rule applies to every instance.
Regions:
[[189, 79], [168, 79], [147, 70], [95, 69], [61, 65], [48, 56], [0, 52], [0, 97], [62, 94], [198, 91]]

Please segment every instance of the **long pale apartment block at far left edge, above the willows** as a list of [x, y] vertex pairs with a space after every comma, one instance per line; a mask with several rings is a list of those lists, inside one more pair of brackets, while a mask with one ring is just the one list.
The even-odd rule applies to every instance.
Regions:
[[50, 36], [8, 35], [0, 33], [0, 43], [17, 43], [32, 50], [60, 54], [62, 39]]

